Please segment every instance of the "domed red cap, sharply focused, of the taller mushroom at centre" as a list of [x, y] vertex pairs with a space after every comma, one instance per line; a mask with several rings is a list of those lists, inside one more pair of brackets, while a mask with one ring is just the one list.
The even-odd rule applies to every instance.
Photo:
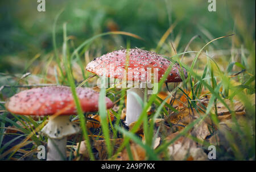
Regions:
[[[137, 48], [129, 49], [129, 51], [121, 49], [94, 58], [86, 66], [86, 70], [100, 76], [105, 74], [106, 77], [123, 79], [123, 74], [126, 73], [126, 56], [128, 55], [130, 60], [127, 65], [127, 80], [142, 81], [143, 78], [147, 78], [147, 69], [151, 69], [151, 73], [154, 72], [153, 69], [156, 69], [158, 71], [158, 81], [160, 81], [168, 66], [171, 65], [171, 62], [160, 54]], [[181, 70], [179, 64], [174, 64], [166, 82], [181, 82], [179, 69], [183, 71], [185, 78], [187, 78], [186, 70], [184, 68]], [[132, 77], [129, 77], [130, 71], [133, 72]]]

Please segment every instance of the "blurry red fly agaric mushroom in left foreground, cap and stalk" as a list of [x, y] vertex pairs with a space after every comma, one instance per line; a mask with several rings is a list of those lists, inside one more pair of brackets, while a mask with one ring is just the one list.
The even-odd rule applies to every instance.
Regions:
[[[99, 94], [96, 91], [80, 87], [76, 89], [76, 93], [82, 111], [98, 111]], [[48, 136], [47, 160], [63, 160], [63, 157], [66, 157], [67, 136], [80, 130], [79, 126], [69, 121], [69, 115], [77, 114], [69, 87], [49, 86], [20, 91], [7, 100], [5, 106], [13, 114], [50, 115], [48, 123], [42, 129], [42, 132]], [[106, 107], [112, 106], [112, 101], [106, 98]], [[59, 114], [53, 115], [56, 113]]]

